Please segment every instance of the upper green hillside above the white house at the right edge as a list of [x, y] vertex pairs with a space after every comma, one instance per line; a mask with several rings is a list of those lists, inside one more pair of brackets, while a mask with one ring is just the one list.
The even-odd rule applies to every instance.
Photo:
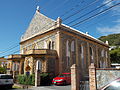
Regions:
[[120, 45], [120, 33], [119, 34], [110, 34], [108, 36], [101, 36], [98, 39], [103, 42], [108, 41], [110, 46]]

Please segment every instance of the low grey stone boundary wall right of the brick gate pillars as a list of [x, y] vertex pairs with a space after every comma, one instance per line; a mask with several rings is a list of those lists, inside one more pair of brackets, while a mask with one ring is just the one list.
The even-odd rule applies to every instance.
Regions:
[[120, 69], [96, 69], [97, 89], [120, 77]]

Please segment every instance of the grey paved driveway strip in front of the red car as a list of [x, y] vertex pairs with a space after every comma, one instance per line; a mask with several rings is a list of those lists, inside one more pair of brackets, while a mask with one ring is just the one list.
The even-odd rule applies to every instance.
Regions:
[[67, 85], [67, 86], [40, 86], [40, 87], [33, 87], [29, 90], [71, 90], [71, 85]]

